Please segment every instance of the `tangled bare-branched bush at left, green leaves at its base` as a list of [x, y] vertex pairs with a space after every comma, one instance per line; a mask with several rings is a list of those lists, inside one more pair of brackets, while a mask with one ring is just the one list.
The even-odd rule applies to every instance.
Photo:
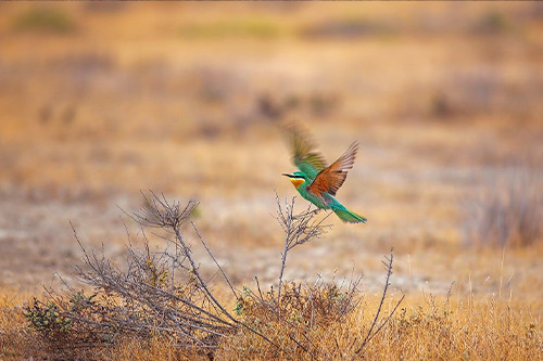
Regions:
[[237, 321], [207, 287], [180, 234], [197, 205], [190, 201], [181, 207], [154, 195], [144, 197], [141, 211], [132, 218], [146, 227], [169, 229], [174, 238], [166, 237], [167, 247], [160, 252], [150, 249], [144, 235], [143, 249], [130, 243], [124, 269], [103, 253], [85, 249], [76, 234], [85, 262], [77, 267], [77, 276], [92, 293], [66, 284], [64, 292], [49, 291], [46, 300], [35, 299], [26, 308], [30, 326], [52, 352], [73, 356], [91, 349], [93, 354], [128, 336], [167, 336], [179, 347], [205, 349], [235, 331]]

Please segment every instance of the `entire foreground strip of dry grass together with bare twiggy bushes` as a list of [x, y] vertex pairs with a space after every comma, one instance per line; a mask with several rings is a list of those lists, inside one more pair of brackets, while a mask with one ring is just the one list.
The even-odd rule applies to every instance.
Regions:
[[[454, 299], [424, 295], [416, 307], [402, 307], [405, 295], [390, 296], [393, 254], [386, 257], [380, 299], [359, 292], [362, 279], [345, 285], [283, 283], [286, 256], [324, 232], [316, 212], [294, 212], [294, 201], [281, 206], [278, 221], [285, 248], [277, 288], [232, 286], [194, 222], [199, 241], [215, 262], [220, 282], [211, 287], [202, 259], [184, 223], [187, 205], [151, 194], [131, 217], [157, 228], [166, 247], [150, 250], [142, 233], [136, 246], [128, 233], [128, 256], [118, 267], [102, 254], [83, 249], [77, 278], [85, 293], [63, 282], [21, 309], [10, 298], [2, 312], [2, 352], [10, 358], [54, 359], [536, 359], [543, 337], [531, 308], [502, 295]], [[75, 232], [75, 231], [74, 231]], [[207, 280], [207, 281], [206, 281]], [[61, 280], [63, 281], [63, 280]], [[229, 289], [228, 289], [229, 288]], [[225, 292], [231, 292], [226, 296]], [[535, 307], [540, 307], [536, 304]], [[396, 312], [397, 311], [397, 312]], [[30, 331], [30, 330], [31, 331]]]

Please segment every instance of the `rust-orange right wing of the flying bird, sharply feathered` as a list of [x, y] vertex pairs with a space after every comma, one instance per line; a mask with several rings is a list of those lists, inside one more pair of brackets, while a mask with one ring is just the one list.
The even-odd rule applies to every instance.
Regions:
[[307, 186], [307, 191], [316, 196], [321, 196], [323, 192], [330, 195], [336, 195], [346, 178], [349, 169], [353, 168], [358, 143], [354, 142], [343, 153], [342, 156], [332, 163], [329, 167], [323, 169], [316, 177], [313, 183]]

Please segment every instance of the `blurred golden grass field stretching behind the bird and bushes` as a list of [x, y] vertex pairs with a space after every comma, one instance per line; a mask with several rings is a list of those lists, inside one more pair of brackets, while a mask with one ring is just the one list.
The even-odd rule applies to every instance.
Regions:
[[[194, 222], [236, 286], [276, 284], [274, 191], [298, 194], [280, 125], [293, 120], [328, 162], [361, 142], [338, 198], [368, 223], [332, 215], [286, 268], [310, 284], [364, 274], [359, 307], [313, 331], [317, 358], [543, 359], [541, 234], [467, 231], [517, 173], [530, 230], [543, 222], [542, 39], [536, 2], [0, 3], [0, 359], [52, 358], [23, 305], [55, 272], [76, 285], [68, 221], [121, 262], [138, 227], [119, 208], [140, 191], [198, 198]], [[405, 299], [353, 354], [391, 247], [384, 308]], [[216, 359], [292, 358], [245, 333], [223, 343]], [[191, 352], [122, 339], [92, 357], [207, 357]]]

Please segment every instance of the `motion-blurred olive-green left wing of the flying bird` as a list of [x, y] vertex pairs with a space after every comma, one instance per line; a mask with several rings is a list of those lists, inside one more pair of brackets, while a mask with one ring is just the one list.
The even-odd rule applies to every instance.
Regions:
[[315, 179], [318, 172], [326, 168], [325, 158], [314, 151], [312, 140], [299, 126], [288, 127], [287, 136], [292, 151], [292, 162], [310, 179]]

